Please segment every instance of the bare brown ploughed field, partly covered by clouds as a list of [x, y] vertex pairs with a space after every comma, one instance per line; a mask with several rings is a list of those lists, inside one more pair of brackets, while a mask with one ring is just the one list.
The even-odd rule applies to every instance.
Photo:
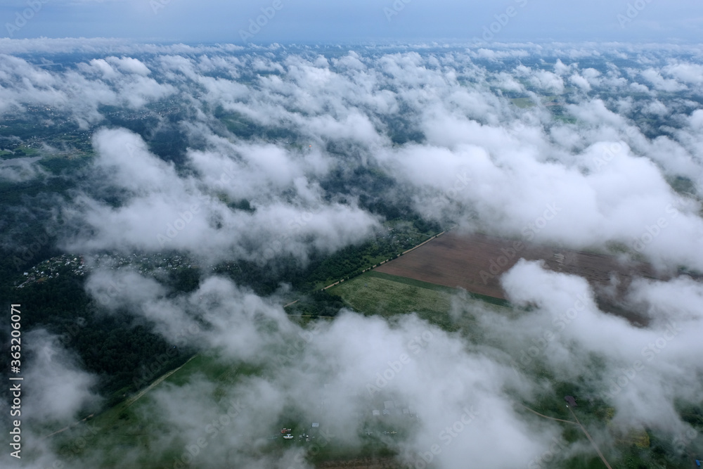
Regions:
[[[460, 287], [471, 293], [505, 299], [499, 277], [519, 259], [543, 260], [553, 271], [582, 276], [598, 291], [599, 299], [615, 301], [633, 278], [659, 278], [652, 266], [641, 262], [624, 263], [609, 255], [579, 252], [548, 246], [528, 245], [484, 234], [446, 233], [418, 249], [375, 268], [385, 274]], [[617, 278], [614, 295], [605, 288]]]

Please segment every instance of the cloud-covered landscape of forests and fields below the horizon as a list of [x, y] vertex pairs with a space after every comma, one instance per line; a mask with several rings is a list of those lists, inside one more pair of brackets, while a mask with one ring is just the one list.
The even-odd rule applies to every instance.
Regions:
[[22, 467], [703, 456], [699, 48], [0, 44]]

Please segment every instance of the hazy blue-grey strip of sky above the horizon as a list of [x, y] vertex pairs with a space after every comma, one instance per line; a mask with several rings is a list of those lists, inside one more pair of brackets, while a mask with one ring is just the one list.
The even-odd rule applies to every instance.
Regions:
[[698, 42], [697, 0], [7, 0], [1, 37], [269, 44], [340, 41]]

